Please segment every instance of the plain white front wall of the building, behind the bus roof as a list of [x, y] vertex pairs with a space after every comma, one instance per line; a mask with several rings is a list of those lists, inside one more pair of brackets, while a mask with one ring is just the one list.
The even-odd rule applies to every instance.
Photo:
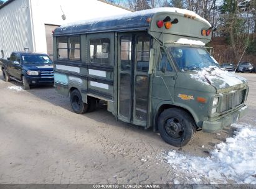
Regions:
[[[44, 24], [62, 25], [69, 22], [114, 16], [130, 11], [97, 0], [31, 0], [36, 51], [47, 53]], [[62, 11], [67, 19], [62, 20]]]

